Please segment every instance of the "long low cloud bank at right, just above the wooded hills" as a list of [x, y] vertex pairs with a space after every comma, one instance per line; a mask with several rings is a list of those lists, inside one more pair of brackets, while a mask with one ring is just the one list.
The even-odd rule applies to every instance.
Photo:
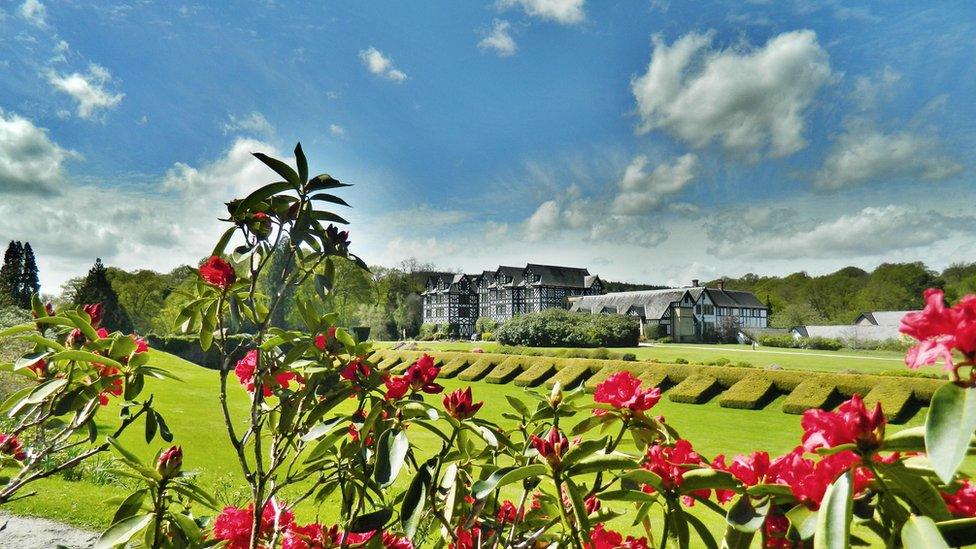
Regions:
[[[952, 217], [899, 205], [870, 206], [831, 219], [796, 221], [796, 212], [729, 212], [709, 227], [719, 258], [822, 259], [872, 257], [930, 246], [972, 234], [976, 218]], [[787, 216], [789, 219], [787, 219]]]

